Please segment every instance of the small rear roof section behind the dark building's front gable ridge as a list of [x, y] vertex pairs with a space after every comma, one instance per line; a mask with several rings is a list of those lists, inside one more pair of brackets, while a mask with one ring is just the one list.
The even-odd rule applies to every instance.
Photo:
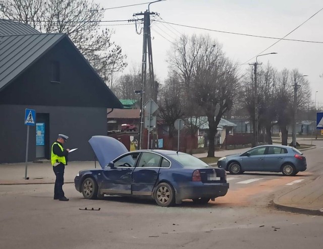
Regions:
[[39, 32], [27, 24], [0, 19], [0, 36], [39, 34]]

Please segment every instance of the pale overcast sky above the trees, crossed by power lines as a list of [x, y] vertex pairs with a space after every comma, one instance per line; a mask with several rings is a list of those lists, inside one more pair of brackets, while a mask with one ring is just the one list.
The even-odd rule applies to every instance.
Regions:
[[[103, 8], [149, 2], [149, 0], [94, 1], [101, 4]], [[144, 12], [147, 8], [148, 5], [139, 5], [106, 10], [104, 20], [132, 19], [134, 13]], [[284, 37], [322, 8], [322, 0], [167, 0], [150, 5], [150, 11], [158, 13], [166, 22], [279, 38]], [[134, 25], [109, 26], [109, 28], [114, 29], [113, 40], [127, 54], [129, 66], [140, 66], [142, 34], [136, 33]], [[180, 33], [209, 34], [223, 44], [223, 50], [238, 64], [245, 63], [277, 41], [152, 22], [154, 72], [162, 82], [168, 72], [167, 52], [171, 48], [171, 42], [178, 39]], [[323, 10], [286, 38], [323, 42]], [[315, 92], [318, 91], [316, 105], [323, 107], [323, 78], [319, 77], [323, 74], [323, 43], [281, 40], [263, 53], [269, 52], [278, 54], [260, 56], [258, 62], [267, 64], [269, 61], [278, 70], [297, 68], [301, 74], [308, 75], [313, 104]], [[253, 62], [255, 58], [248, 61], [248, 63]], [[242, 71], [247, 67], [249, 66], [240, 66]], [[129, 72], [129, 67], [124, 72]]]

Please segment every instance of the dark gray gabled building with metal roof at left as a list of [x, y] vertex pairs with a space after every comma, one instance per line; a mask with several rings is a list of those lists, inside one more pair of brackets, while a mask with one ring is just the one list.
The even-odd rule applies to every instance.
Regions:
[[26, 108], [43, 128], [30, 127], [28, 161], [49, 159], [60, 133], [78, 148], [70, 160], [93, 160], [88, 140], [106, 135], [106, 109], [123, 105], [66, 34], [0, 20], [0, 163], [25, 161]]

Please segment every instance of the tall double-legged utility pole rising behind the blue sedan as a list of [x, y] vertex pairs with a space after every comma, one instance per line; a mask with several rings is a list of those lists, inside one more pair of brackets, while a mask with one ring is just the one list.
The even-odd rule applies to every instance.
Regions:
[[[161, 0], [155, 1], [155, 2], [160, 2]], [[152, 2], [152, 3], [155, 3]], [[150, 4], [152, 4], [150, 3]], [[149, 4], [149, 5], [150, 5]], [[143, 19], [139, 19], [140, 21], [143, 21], [143, 47], [142, 47], [142, 67], [141, 67], [141, 84], [142, 84], [142, 93], [147, 92], [148, 87], [149, 91], [146, 94], [146, 99], [152, 98], [154, 102], [157, 102], [157, 82], [154, 80], [154, 73], [153, 73], [153, 63], [152, 63], [152, 48], [151, 48], [151, 35], [150, 35], [150, 15], [156, 15], [154, 12], [149, 11], [149, 5], [148, 5], [148, 10], [145, 11], [144, 13], [136, 13], [134, 16], [143, 16]], [[137, 21], [137, 20], [135, 20]], [[148, 52], [148, 66], [149, 66], [149, 86], [147, 86], [147, 52]], [[141, 109], [140, 109], [140, 129], [139, 129], [139, 148], [142, 148], [142, 127], [143, 127], [143, 103], [145, 102], [143, 98], [143, 94], [141, 94]], [[148, 129], [148, 133], [149, 133]], [[153, 132], [155, 136], [153, 136], [153, 149], [155, 147], [158, 147], [158, 143], [156, 143], [157, 139], [157, 133], [156, 131]], [[156, 145], [156, 146], [155, 146]]]

